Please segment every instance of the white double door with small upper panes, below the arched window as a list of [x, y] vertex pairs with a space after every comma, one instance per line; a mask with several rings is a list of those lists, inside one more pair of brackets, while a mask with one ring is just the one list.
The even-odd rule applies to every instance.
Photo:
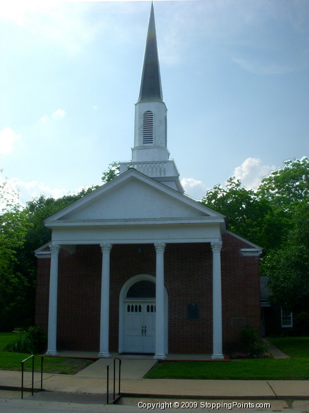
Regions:
[[155, 301], [124, 302], [124, 352], [155, 352]]

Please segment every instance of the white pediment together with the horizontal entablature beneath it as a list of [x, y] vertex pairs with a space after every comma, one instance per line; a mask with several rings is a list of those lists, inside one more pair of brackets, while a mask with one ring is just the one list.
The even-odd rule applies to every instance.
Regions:
[[214, 242], [225, 218], [129, 169], [45, 220], [57, 244]]

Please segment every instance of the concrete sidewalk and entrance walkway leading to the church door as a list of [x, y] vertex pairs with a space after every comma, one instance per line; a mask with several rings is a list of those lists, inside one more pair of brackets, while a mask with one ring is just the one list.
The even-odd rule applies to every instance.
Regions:
[[[73, 355], [73, 354], [63, 354]], [[76, 353], [74, 353], [76, 356]], [[79, 354], [84, 357], [85, 354]], [[91, 354], [88, 354], [91, 357]], [[115, 355], [115, 354], [113, 354]], [[169, 359], [201, 359], [207, 360], [207, 354], [190, 357], [186, 355], [170, 355]], [[152, 357], [122, 357], [121, 392], [125, 396], [160, 397], [178, 399], [309, 399], [309, 381], [290, 380], [171, 380], [144, 379], [144, 376], [156, 361]], [[91, 366], [73, 376], [67, 374], [43, 374], [43, 388], [49, 392], [66, 392], [74, 394], [106, 393], [106, 364], [111, 359], [99, 359]], [[113, 374], [113, 368], [111, 368]], [[32, 375], [25, 373], [25, 385], [30, 388]], [[41, 386], [41, 374], [34, 374], [35, 387]], [[109, 388], [113, 381], [110, 379]], [[117, 388], [116, 379], [116, 388]], [[0, 370], [0, 388], [20, 388], [21, 372]]]

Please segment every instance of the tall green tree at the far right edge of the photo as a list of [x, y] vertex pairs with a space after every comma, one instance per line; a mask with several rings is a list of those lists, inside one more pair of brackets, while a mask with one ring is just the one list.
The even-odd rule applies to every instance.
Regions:
[[262, 260], [271, 301], [290, 310], [309, 311], [309, 159], [284, 161], [262, 179], [258, 196], [280, 216], [281, 242]]

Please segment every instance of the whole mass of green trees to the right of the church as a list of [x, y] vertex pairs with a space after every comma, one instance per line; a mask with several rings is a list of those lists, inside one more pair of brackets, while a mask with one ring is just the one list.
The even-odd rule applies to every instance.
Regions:
[[229, 178], [202, 202], [226, 215], [231, 231], [264, 248], [261, 272], [269, 277], [271, 301], [309, 311], [309, 159], [284, 161], [257, 191]]

